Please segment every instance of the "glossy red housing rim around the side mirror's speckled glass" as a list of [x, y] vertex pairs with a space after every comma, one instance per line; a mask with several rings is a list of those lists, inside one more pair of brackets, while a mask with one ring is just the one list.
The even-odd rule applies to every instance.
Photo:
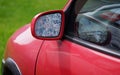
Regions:
[[[60, 27], [60, 33], [59, 33], [59, 36], [57, 37], [54, 37], [54, 38], [43, 38], [43, 37], [38, 37], [36, 36], [35, 34], [35, 24], [36, 24], [36, 21], [38, 20], [38, 18], [40, 18], [41, 16], [43, 15], [47, 15], [47, 14], [53, 14], [53, 13], [60, 13], [61, 16], [62, 16], [62, 23], [61, 23], [61, 27]], [[62, 10], [55, 10], [55, 11], [48, 11], [48, 12], [44, 12], [44, 13], [40, 13], [38, 15], [36, 15], [32, 22], [31, 22], [31, 31], [32, 31], [32, 35], [35, 37], [35, 38], [38, 38], [38, 39], [42, 39], [42, 40], [58, 40], [60, 38], [62, 38], [63, 36], [63, 32], [64, 32], [64, 22], [65, 22], [65, 15], [64, 15], [64, 12]]]

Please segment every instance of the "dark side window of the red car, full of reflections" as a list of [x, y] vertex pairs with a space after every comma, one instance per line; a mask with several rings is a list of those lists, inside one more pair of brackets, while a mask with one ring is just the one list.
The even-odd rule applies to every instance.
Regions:
[[88, 0], [76, 23], [78, 38], [120, 50], [120, 0]]

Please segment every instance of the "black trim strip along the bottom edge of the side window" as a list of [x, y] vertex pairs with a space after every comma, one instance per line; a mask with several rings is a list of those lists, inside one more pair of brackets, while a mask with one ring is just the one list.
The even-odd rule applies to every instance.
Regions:
[[71, 35], [68, 35], [68, 34], [65, 35], [64, 37], [65, 37], [65, 39], [67, 39], [67, 40], [69, 40], [69, 41], [71, 41], [73, 43], [85, 46], [85, 47], [90, 48], [92, 50], [95, 50], [97, 52], [101, 52], [101, 53], [104, 53], [104, 54], [107, 54], [107, 55], [110, 55], [110, 56], [113, 56], [113, 57], [116, 57], [116, 58], [120, 59], [120, 52], [118, 52], [118, 51], [113, 51], [111, 49], [104, 48], [102, 46], [99, 46], [99, 45], [84, 41], [82, 39], [79, 39], [79, 38], [77, 38], [75, 36], [72, 37]]

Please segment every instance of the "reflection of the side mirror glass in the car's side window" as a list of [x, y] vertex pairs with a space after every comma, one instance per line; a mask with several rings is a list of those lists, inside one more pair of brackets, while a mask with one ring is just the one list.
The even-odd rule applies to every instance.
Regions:
[[104, 25], [85, 16], [81, 16], [78, 23], [79, 38], [97, 44], [103, 44], [106, 42], [108, 32]]

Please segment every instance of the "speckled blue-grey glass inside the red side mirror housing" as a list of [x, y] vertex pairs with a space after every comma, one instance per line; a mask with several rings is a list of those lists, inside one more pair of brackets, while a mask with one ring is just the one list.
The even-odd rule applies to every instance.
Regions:
[[35, 24], [35, 33], [41, 37], [56, 37], [60, 33], [61, 14], [53, 13], [38, 18]]

